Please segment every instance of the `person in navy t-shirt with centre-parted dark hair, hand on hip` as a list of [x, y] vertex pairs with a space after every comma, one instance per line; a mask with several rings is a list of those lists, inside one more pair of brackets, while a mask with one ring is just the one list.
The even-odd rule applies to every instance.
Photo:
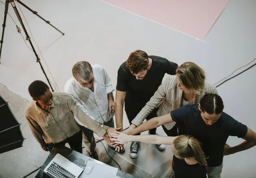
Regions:
[[[208, 178], [221, 178], [223, 155], [234, 154], [256, 145], [256, 133], [222, 112], [223, 108], [220, 96], [206, 93], [200, 104], [186, 105], [173, 110], [171, 114], [146, 121], [128, 134], [135, 135], [172, 121], [183, 122], [186, 125], [187, 135], [197, 138], [202, 143], [204, 153], [208, 157]], [[230, 147], [226, 144], [229, 136], [237, 136], [246, 141]]]

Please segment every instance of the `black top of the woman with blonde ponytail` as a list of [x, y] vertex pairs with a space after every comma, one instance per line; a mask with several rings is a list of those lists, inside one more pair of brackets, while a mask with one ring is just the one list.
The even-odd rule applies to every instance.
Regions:
[[184, 159], [173, 155], [173, 178], [207, 178], [206, 167], [200, 164], [189, 165]]

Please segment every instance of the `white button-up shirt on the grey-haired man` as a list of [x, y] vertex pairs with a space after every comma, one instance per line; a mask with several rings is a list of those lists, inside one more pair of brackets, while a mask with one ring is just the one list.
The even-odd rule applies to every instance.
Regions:
[[[93, 120], [103, 124], [111, 119], [108, 109], [108, 93], [114, 91], [108, 73], [100, 65], [92, 65], [94, 76], [94, 92], [89, 88], [82, 87], [72, 77], [65, 85], [65, 92], [68, 93], [81, 109]], [[76, 117], [78, 124], [85, 126]], [[85, 126], [86, 127], [86, 126]]]

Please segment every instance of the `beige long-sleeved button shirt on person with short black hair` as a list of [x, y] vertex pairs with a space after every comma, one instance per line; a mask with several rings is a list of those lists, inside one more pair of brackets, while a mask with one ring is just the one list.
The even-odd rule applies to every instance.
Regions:
[[106, 133], [100, 124], [84, 113], [67, 93], [55, 92], [52, 100], [49, 112], [41, 109], [35, 101], [31, 102], [25, 110], [25, 118], [32, 134], [42, 147], [47, 143], [64, 141], [79, 132], [80, 127], [73, 113], [99, 137]]

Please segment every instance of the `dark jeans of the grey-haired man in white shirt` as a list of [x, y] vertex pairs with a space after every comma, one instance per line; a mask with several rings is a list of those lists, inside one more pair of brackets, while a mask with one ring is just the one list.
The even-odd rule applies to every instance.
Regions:
[[[113, 118], [110, 119], [107, 122], [104, 122], [104, 125], [108, 126], [108, 127], [114, 127], [114, 120]], [[93, 131], [81, 126], [81, 130], [83, 131], [83, 141], [86, 144], [86, 146], [90, 149], [90, 153], [94, 153], [95, 152], [95, 148], [96, 148], [96, 141], [95, 138], [93, 136]]]

